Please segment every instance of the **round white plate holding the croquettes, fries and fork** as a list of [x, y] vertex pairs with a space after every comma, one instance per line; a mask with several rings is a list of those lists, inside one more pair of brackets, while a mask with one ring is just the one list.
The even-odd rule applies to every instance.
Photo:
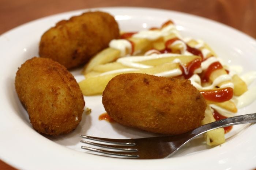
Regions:
[[[96, 9], [93, 9], [96, 10]], [[149, 8], [98, 8], [110, 12], [121, 30], [138, 31], [158, 27], [168, 19], [176, 23], [183, 36], [205, 40], [218, 56], [230, 64], [244, 66], [244, 72], [256, 70], [256, 41], [223, 24], [184, 13]], [[108, 158], [80, 149], [80, 134], [106, 138], [148, 137], [152, 134], [133, 130], [117, 123], [99, 121], [104, 112], [101, 96], [85, 97], [92, 109], [71, 134], [48, 139], [33, 130], [28, 115], [15, 92], [18, 67], [38, 56], [41, 35], [57, 21], [87, 11], [74, 11], [45, 17], [0, 37], [0, 159], [18, 169], [253, 169], [256, 167], [256, 124], [234, 129], [227, 142], [207, 147], [203, 139], [189, 143], [174, 157], [157, 160]], [[72, 72], [79, 79], [79, 70]], [[238, 114], [255, 112], [256, 102]], [[239, 133], [239, 134], [238, 134]]]

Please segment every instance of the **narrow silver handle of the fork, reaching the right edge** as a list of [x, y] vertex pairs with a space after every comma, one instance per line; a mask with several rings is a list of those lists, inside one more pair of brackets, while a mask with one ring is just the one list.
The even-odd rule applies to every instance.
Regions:
[[198, 135], [206, 133], [207, 131], [214, 130], [220, 127], [227, 127], [227, 126], [233, 126], [236, 124], [255, 123], [255, 122], [256, 122], [256, 113], [241, 115], [241, 116], [234, 116], [231, 118], [221, 119], [216, 122], [204, 124], [203, 126], [200, 126], [190, 131], [190, 135], [192, 135], [192, 137], [194, 138], [194, 137], [197, 137]]

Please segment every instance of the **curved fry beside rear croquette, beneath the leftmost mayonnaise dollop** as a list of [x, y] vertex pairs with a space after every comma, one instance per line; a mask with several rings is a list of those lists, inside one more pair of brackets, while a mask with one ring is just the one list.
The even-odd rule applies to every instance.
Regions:
[[96, 54], [88, 64], [84, 67], [82, 74], [86, 74], [93, 70], [93, 68], [99, 64], [105, 64], [113, 62], [120, 57], [120, 51], [114, 48], [105, 48], [98, 54]]

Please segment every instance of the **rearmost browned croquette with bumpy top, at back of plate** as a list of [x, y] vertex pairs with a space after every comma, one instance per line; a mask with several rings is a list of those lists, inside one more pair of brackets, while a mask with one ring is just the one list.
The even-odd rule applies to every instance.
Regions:
[[39, 56], [51, 58], [70, 69], [85, 64], [118, 37], [118, 24], [112, 15], [86, 12], [59, 21], [46, 31], [39, 44]]

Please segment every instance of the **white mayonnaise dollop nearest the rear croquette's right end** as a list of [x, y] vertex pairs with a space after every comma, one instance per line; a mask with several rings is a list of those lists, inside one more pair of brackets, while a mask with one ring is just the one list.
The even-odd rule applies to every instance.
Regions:
[[132, 44], [125, 39], [111, 40], [109, 43], [109, 47], [119, 50], [121, 53], [121, 57], [127, 55], [127, 51], [128, 54], [131, 54], [132, 51]]

